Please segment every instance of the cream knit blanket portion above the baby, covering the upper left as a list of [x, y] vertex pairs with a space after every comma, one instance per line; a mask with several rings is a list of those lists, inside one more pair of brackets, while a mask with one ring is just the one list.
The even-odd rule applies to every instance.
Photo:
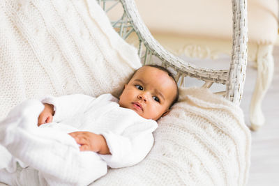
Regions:
[[137, 50], [96, 1], [0, 1], [0, 120], [42, 95], [119, 95]]

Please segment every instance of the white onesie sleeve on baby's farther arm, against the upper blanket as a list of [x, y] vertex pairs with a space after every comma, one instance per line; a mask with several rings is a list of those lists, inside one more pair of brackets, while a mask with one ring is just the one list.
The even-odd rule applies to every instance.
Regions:
[[63, 95], [60, 97], [49, 95], [42, 98], [41, 102], [54, 105], [53, 122], [57, 123], [65, 118], [73, 117], [77, 113], [86, 111], [89, 104], [95, 99], [83, 94]]

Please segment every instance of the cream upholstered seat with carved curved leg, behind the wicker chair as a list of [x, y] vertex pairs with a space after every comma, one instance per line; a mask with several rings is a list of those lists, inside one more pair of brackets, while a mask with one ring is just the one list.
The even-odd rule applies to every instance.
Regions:
[[[200, 59], [220, 59], [224, 54], [230, 54], [232, 12], [229, 1], [135, 0], [135, 2], [154, 38], [174, 54]], [[157, 8], [158, 3], [160, 7], [154, 14], [153, 9]], [[258, 130], [265, 123], [262, 101], [271, 84], [274, 70], [272, 52], [278, 36], [278, 1], [254, 0], [247, 3], [248, 65], [257, 68], [249, 117], [250, 128]], [[146, 6], [147, 4], [149, 6]], [[171, 16], [169, 13], [172, 13]]]

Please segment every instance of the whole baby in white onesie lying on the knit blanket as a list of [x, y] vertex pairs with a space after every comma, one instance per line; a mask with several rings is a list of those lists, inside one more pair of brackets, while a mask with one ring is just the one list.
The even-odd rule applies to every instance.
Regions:
[[171, 73], [145, 65], [119, 100], [104, 94], [25, 101], [0, 123], [0, 182], [22, 185], [38, 175], [40, 185], [89, 185], [107, 166], [137, 164], [153, 146], [156, 121], [177, 99]]

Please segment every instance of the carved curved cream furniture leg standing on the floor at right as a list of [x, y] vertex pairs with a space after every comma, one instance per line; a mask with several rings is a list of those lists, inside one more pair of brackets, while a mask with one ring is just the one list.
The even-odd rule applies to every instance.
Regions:
[[264, 125], [262, 100], [269, 88], [274, 71], [273, 45], [259, 45], [257, 52], [257, 82], [250, 104], [251, 129], [258, 130]]

